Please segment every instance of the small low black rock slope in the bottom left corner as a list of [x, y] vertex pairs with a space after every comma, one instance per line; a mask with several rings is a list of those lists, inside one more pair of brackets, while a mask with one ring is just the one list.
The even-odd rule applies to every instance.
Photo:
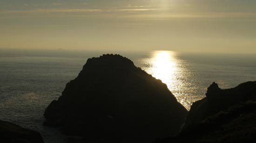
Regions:
[[0, 143], [44, 143], [44, 141], [37, 131], [0, 121]]

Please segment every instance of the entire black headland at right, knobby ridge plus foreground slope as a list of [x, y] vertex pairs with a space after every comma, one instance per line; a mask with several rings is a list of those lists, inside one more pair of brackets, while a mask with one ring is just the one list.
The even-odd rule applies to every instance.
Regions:
[[213, 83], [191, 106], [182, 132], [155, 143], [255, 143], [255, 137], [256, 81], [230, 89]]

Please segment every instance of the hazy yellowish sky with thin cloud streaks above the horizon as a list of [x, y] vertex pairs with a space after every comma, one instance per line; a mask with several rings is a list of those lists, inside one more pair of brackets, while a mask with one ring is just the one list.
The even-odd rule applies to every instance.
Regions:
[[256, 0], [0, 0], [0, 48], [256, 53]]

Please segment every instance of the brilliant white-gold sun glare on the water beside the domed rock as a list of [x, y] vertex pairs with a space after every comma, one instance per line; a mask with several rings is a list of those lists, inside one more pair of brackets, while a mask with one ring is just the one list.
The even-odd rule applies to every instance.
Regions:
[[189, 110], [191, 104], [201, 99], [201, 97], [198, 98], [197, 96], [195, 98], [195, 96], [189, 96], [191, 94], [186, 92], [193, 87], [186, 81], [190, 72], [184, 66], [186, 61], [182, 61], [176, 56], [177, 53], [174, 51], [154, 51], [149, 57], [141, 59], [141, 63], [145, 64], [142, 69], [165, 83], [177, 100]]

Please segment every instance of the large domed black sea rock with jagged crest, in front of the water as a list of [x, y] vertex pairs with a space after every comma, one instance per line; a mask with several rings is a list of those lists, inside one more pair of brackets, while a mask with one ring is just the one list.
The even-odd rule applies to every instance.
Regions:
[[166, 84], [120, 55], [90, 58], [45, 110], [45, 125], [89, 142], [149, 142], [180, 131], [187, 110]]

